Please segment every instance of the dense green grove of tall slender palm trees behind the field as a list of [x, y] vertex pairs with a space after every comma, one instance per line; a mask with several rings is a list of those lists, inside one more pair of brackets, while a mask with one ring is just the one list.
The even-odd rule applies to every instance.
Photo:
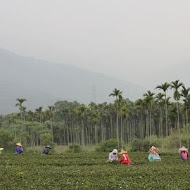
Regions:
[[176, 80], [158, 85], [155, 91], [147, 91], [132, 102], [115, 88], [108, 94], [114, 97], [112, 103], [58, 101], [34, 111], [24, 106], [26, 99], [18, 98], [15, 106], [19, 112], [0, 116], [1, 136], [38, 146], [49, 141], [57, 145], [93, 145], [111, 138], [129, 143], [152, 135], [180, 135], [189, 124], [190, 88]]

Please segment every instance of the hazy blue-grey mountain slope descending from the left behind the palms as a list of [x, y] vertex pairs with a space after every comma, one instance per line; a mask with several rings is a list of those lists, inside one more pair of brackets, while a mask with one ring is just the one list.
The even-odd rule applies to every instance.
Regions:
[[135, 84], [66, 64], [19, 56], [4, 49], [0, 49], [0, 68], [0, 114], [15, 111], [17, 98], [26, 98], [27, 108], [34, 109], [57, 100], [110, 101], [109, 94], [114, 88], [132, 100], [145, 92]]

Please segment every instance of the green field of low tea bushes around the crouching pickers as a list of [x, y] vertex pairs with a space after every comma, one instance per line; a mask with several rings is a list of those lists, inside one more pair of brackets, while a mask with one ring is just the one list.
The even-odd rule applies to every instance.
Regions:
[[190, 160], [161, 154], [149, 163], [146, 153], [129, 154], [134, 165], [106, 162], [105, 153], [0, 155], [0, 189], [190, 189]]

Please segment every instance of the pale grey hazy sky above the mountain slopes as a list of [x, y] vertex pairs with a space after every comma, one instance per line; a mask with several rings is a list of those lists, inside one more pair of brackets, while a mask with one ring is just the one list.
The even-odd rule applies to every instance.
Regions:
[[153, 86], [151, 75], [190, 61], [189, 7], [189, 0], [0, 0], [0, 47]]

